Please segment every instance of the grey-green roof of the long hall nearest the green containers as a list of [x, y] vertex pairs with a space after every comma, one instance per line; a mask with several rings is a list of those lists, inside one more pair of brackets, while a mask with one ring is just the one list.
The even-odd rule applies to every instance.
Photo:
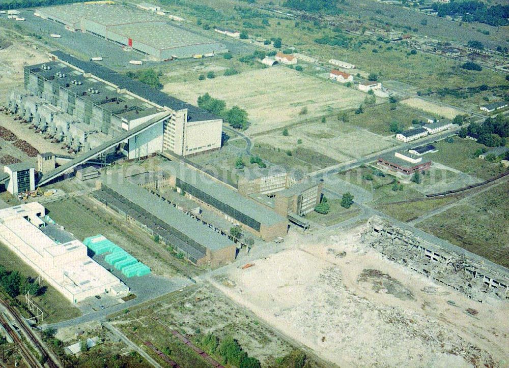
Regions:
[[208, 249], [220, 250], [235, 246], [235, 243], [227, 237], [219, 235], [200, 222], [196, 222], [160, 197], [153, 195], [143, 187], [138, 187], [127, 179], [107, 176], [103, 183], [106, 187]]

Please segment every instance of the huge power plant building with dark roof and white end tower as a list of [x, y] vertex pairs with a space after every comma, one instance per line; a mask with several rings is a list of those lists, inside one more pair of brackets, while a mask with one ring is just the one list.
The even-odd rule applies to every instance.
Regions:
[[[142, 82], [61, 51], [26, 66], [10, 108], [70, 146], [87, 151], [149, 120], [159, 124], [123, 142], [129, 159], [169, 151], [179, 156], [221, 147], [222, 119]], [[78, 148], [76, 148], [78, 149]]]

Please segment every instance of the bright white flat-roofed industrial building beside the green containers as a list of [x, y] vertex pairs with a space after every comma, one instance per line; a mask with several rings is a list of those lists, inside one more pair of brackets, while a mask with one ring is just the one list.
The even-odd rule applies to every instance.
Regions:
[[[61, 227], [46, 224], [37, 202], [0, 210], [0, 241], [73, 303], [129, 288], [87, 256], [87, 247]], [[49, 231], [51, 229], [51, 231]]]

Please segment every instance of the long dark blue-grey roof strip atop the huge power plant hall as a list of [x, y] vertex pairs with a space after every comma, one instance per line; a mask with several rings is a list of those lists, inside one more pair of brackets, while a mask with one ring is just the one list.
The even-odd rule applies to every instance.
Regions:
[[90, 73], [102, 80], [115, 84], [119, 88], [125, 88], [130, 93], [142, 97], [159, 106], [166, 106], [172, 110], [182, 110], [187, 108], [187, 121], [203, 121], [220, 119], [215, 114], [207, 112], [199, 107], [188, 104], [175, 97], [166, 95], [165, 93], [148, 86], [145, 83], [131, 79], [123, 74], [117, 73], [114, 70], [103, 67], [94, 62], [86, 62], [74, 56], [71, 56], [62, 51], [51, 52], [54, 56], [58, 57], [63, 62], [73, 65], [74, 67], [82, 70], [84, 73]]

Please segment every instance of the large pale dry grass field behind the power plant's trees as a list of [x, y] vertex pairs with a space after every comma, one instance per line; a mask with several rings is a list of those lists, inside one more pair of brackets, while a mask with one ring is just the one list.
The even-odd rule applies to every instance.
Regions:
[[[163, 91], [191, 103], [208, 92], [226, 101], [227, 107], [238, 105], [249, 113], [251, 134], [357, 107], [365, 97], [353, 88], [281, 66], [204, 81], [167, 83]], [[308, 113], [301, 115], [303, 107]]]

